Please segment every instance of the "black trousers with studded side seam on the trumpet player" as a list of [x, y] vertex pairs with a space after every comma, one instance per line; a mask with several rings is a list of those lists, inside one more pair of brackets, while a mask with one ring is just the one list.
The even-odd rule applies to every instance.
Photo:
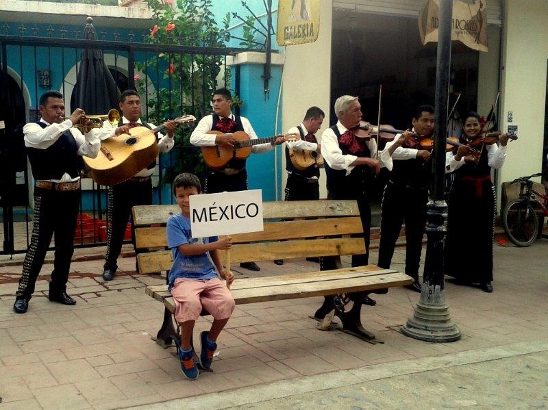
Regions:
[[66, 291], [79, 206], [79, 190], [58, 191], [34, 188], [32, 236], [23, 262], [23, 274], [19, 279], [16, 292], [17, 299], [29, 300], [32, 297], [36, 278], [42, 269], [54, 233], [55, 259], [49, 282], [49, 294], [58, 296]]

